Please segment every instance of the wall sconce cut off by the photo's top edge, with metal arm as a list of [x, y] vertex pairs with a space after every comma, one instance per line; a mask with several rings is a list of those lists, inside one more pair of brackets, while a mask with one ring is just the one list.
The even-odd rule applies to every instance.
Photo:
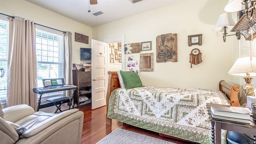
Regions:
[[226, 12], [238, 12], [242, 10], [248, 18], [248, 13], [251, 13], [249, 20], [252, 19], [253, 11], [255, 7], [255, 0], [229, 0], [224, 10]]

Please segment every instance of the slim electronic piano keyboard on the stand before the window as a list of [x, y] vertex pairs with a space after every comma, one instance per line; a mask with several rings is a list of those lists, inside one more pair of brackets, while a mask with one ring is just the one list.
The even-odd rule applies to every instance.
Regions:
[[48, 87], [42, 87], [42, 88], [33, 88], [33, 92], [36, 94], [44, 94], [48, 92], [57, 92], [62, 90], [72, 90], [76, 89], [77, 86], [74, 85], [63, 85], [63, 86], [48, 86]]

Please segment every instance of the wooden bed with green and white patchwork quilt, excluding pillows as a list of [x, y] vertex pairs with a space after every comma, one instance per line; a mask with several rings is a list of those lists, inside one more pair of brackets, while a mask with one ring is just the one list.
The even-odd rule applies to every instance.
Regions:
[[[220, 81], [220, 90], [196, 88], [158, 88], [143, 86], [120, 88], [117, 72], [108, 71], [106, 124], [115, 119], [158, 132], [161, 136], [201, 144], [211, 143], [211, 124], [206, 103], [240, 106], [240, 86]], [[225, 132], [222, 132], [225, 143]]]

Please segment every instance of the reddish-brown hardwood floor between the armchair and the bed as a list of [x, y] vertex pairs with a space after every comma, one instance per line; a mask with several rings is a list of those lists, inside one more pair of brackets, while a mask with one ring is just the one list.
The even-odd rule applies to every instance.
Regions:
[[159, 136], [158, 133], [156, 132], [137, 128], [128, 124], [123, 124], [122, 122], [118, 122], [116, 120], [112, 120], [112, 125], [106, 124], [106, 106], [92, 110], [91, 104], [85, 104], [83, 106], [80, 106], [80, 111], [84, 112], [84, 126], [81, 144], [95, 144], [96, 142], [104, 138], [106, 135], [110, 134], [110, 132], [114, 131], [116, 128], [130, 130], [132, 132], [145, 134], [147, 136], [159, 138], [169, 142], [174, 142], [176, 144], [191, 144], [188, 142], [175, 140], [172, 138], [162, 137]]

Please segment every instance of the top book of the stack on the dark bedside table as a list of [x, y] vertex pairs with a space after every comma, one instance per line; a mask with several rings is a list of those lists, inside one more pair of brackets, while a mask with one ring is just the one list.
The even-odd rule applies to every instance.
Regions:
[[212, 115], [224, 116], [229, 118], [238, 118], [244, 120], [250, 120], [251, 110], [248, 108], [234, 107], [228, 105], [210, 105]]

